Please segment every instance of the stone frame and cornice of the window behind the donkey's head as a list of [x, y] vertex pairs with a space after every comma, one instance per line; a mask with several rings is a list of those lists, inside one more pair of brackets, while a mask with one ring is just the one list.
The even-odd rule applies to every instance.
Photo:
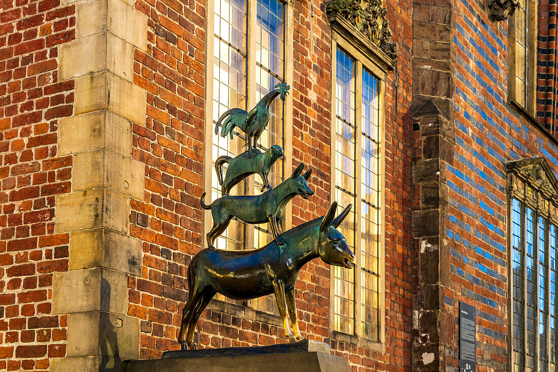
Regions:
[[[336, 110], [335, 110], [335, 79], [336, 79], [336, 53], [338, 47], [343, 49], [345, 53], [349, 54], [354, 60], [356, 71], [362, 71], [363, 68], [366, 68], [370, 71], [379, 82], [379, 143], [380, 145], [380, 166], [379, 166], [379, 187], [381, 189], [379, 199], [381, 201], [385, 200], [385, 146], [382, 144], [385, 143], [385, 83], [387, 79], [387, 72], [393, 70], [393, 61], [388, 59], [387, 56], [377, 47], [377, 45], [372, 44], [369, 40], [367, 40], [362, 33], [360, 33], [348, 20], [341, 16], [333, 16], [329, 17], [329, 21], [331, 22], [332, 28], [332, 35], [331, 35], [331, 181], [330, 181], [330, 199], [331, 202], [334, 201], [335, 197], [335, 182], [334, 182], [334, 175], [335, 175], [335, 157], [334, 154], [334, 144], [333, 141], [336, 136], [336, 130], [333, 123], [336, 122]], [[362, 73], [358, 72], [356, 75], [356, 80], [359, 82], [359, 79], [362, 80]], [[357, 101], [355, 103], [355, 115], [358, 115], [360, 108], [358, 107], [358, 97], [361, 92], [361, 85], [362, 83], [357, 83], [355, 87], [355, 97], [357, 97]], [[360, 127], [357, 126], [357, 131], [360, 130]], [[362, 151], [362, 141], [360, 140], [360, 136], [357, 136], [356, 142], [356, 154], [360, 154]], [[360, 169], [362, 166], [362, 160], [360, 156], [357, 156], [355, 159], [355, 168]], [[358, 185], [360, 184], [360, 171], [357, 171], [356, 174], [356, 184], [357, 189], [359, 189]], [[360, 196], [360, 191], [357, 193], [357, 198]], [[380, 223], [385, 220], [385, 205], [381, 203], [381, 211], [380, 211]], [[355, 221], [360, 219], [360, 202], [357, 203], [356, 213], [355, 213]], [[360, 270], [360, 260], [359, 260], [359, 251], [358, 251], [358, 242], [360, 240], [360, 229], [358, 228], [359, 224], [355, 226], [355, 255], [357, 256], [357, 266], [355, 266], [355, 272], [359, 272]], [[367, 347], [368, 349], [377, 350], [381, 352], [386, 351], [386, 308], [385, 308], [385, 262], [382, 259], [384, 257], [385, 252], [385, 234], [382, 234], [380, 237], [379, 247], [378, 247], [378, 259], [379, 264], [379, 278], [378, 278], [378, 317], [379, 317], [379, 340], [374, 341], [368, 338], [364, 338], [360, 335], [359, 327], [357, 326], [357, 322], [360, 319], [360, 275], [355, 275], [355, 283], [354, 283], [354, 334], [343, 333], [339, 331], [335, 331], [333, 328], [333, 319], [334, 319], [334, 306], [333, 301], [335, 298], [334, 292], [334, 270], [330, 269], [330, 337], [333, 340], [346, 342], [348, 344], [358, 345], [362, 347]]]

